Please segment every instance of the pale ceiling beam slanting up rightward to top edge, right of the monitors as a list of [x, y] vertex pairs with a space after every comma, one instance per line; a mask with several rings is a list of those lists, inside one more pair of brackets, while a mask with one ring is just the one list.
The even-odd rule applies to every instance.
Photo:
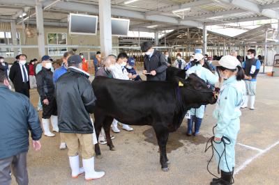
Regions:
[[211, 0], [196, 0], [190, 3], [181, 3], [179, 5], [159, 8], [158, 10], [151, 10], [149, 12], [146, 12], [145, 15], [160, 15], [162, 13], [170, 13], [173, 10], [179, 10], [182, 8], [193, 8], [195, 6], [202, 6], [209, 3], [213, 3], [213, 2]]

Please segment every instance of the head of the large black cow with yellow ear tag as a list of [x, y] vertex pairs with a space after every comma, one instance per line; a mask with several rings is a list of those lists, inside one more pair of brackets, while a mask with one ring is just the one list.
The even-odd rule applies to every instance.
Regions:
[[190, 74], [187, 79], [179, 79], [179, 88], [183, 103], [190, 108], [199, 108], [201, 105], [215, 104], [216, 93], [207, 87], [204, 80], [197, 74]]

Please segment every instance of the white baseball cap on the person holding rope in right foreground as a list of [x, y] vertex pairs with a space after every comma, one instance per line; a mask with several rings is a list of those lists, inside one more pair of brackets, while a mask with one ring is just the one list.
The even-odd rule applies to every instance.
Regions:
[[220, 61], [212, 61], [211, 64], [214, 66], [222, 66], [229, 70], [234, 70], [238, 65], [241, 66], [239, 60], [237, 60], [236, 57], [230, 55], [223, 56]]

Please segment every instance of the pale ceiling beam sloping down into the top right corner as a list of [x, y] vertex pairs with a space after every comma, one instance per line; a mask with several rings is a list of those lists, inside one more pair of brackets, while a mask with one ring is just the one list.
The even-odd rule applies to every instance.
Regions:
[[219, 1], [221, 1], [223, 3], [232, 4], [233, 6], [241, 8], [243, 10], [248, 10], [250, 12], [259, 13], [261, 15], [264, 15], [264, 16], [272, 18], [272, 19], [279, 19], [278, 11], [267, 9], [267, 8], [262, 8], [257, 3], [253, 3], [248, 0], [219, 0]]

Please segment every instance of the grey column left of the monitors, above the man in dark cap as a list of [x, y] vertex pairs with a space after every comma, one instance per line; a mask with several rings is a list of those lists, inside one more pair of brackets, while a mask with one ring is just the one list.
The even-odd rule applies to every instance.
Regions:
[[43, 27], [43, 7], [39, 0], [36, 1], [36, 24], [38, 33], [39, 58], [45, 55], [45, 33]]

